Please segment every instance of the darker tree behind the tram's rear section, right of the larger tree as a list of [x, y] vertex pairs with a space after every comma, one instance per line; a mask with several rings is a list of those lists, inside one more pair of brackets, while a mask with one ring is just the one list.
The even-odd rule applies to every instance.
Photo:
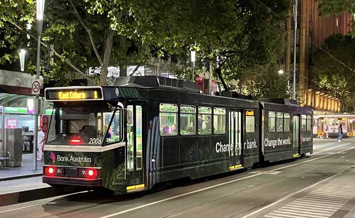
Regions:
[[[291, 8], [291, 0], [269, 0], [264, 2], [273, 12], [268, 11], [264, 5], [256, 0], [240, 1], [239, 9], [242, 12], [240, 19], [243, 25], [239, 31], [228, 37], [221, 37], [211, 44], [198, 44], [194, 47], [196, 55], [202, 62], [210, 61], [210, 70], [216, 67], [215, 60], [218, 54], [225, 58], [222, 76], [229, 88], [239, 83], [242, 86], [255, 86], [256, 78], [264, 80], [266, 69], [271, 70], [284, 55], [285, 23]], [[203, 65], [202, 65], [203, 66]], [[195, 71], [204, 70], [196, 66]], [[277, 71], [275, 71], [277, 72]], [[186, 71], [190, 74], [190, 71]], [[191, 75], [191, 74], [190, 74]], [[179, 78], [191, 78], [179, 72]], [[214, 75], [217, 78], [217, 75]], [[273, 81], [268, 80], [272, 85]], [[286, 85], [287, 86], [287, 85]], [[286, 87], [285, 86], [285, 87]]]

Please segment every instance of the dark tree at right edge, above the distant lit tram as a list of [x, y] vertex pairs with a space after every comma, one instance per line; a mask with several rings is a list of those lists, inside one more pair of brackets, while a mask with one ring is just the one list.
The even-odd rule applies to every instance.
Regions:
[[355, 93], [355, 40], [351, 36], [332, 35], [325, 39], [323, 50], [312, 55], [311, 70], [319, 87], [342, 102], [340, 109], [343, 111], [344, 104], [350, 103], [349, 96]]

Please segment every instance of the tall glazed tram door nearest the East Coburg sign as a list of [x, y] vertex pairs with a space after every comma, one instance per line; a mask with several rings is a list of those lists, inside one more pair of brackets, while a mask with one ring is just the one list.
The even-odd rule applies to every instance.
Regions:
[[145, 184], [144, 178], [144, 131], [143, 105], [128, 105], [132, 112], [131, 124], [127, 123], [127, 171], [129, 185]]

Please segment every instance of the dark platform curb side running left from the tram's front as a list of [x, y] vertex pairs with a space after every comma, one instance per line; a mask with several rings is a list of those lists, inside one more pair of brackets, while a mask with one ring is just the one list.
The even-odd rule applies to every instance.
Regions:
[[55, 196], [72, 194], [87, 189], [77, 186], [65, 186], [63, 188], [53, 189], [52, 187], [38, 188], [20, 192], [13, 192], [9, 194], [0, 195], [0, 207], [9, 206], [16, 203], [23, 203], [27, 201], [35, 201], [46, 199]]

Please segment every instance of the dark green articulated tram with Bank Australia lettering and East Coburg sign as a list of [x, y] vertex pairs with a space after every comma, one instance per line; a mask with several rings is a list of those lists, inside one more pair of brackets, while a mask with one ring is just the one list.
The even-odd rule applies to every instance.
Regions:
[[116, 193], [312, 153], [312, 110], [288, 99], [200, 94], [155, 76], [47, 88], [53, 103], [43, 182]]

